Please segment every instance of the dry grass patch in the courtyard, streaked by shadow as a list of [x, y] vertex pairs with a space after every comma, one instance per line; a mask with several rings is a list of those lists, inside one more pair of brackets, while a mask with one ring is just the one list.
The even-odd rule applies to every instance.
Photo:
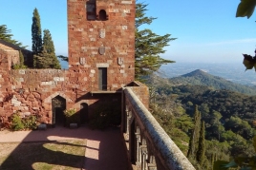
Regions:
[[86, 141], [0, 143], [0, 169], [81, 169]]

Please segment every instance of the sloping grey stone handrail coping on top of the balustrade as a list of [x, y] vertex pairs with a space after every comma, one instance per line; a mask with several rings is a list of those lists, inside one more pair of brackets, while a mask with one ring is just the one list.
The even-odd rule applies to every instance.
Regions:
[[135, 114], [139, 117], [139, 122], [144, 124], [145, 130], [155, 143], [157, 150], [160, 152], [161, 160], [170, 170], [195, 170], [193, 165], [183, 155], [180, 148], [170, 139], [166, 132], [156, 121], [153, 115], [139, 101], [139, 98], [131, 88], [124, 89], [126, 98], [134, 107]]

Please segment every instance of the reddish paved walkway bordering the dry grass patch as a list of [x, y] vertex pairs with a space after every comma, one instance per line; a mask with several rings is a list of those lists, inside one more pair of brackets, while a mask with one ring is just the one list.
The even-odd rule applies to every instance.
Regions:
[[83, 170], [128, 170], [123, 139], [118, 128], [104, 131], [64, 127], [36, 131], [0, 131], [0, 142], [87, 140]]

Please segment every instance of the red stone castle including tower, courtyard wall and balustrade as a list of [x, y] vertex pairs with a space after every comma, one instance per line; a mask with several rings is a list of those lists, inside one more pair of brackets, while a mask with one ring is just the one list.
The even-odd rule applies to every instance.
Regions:
[[135, 82], [135, 0], [67, 0], [69, 69], [12, 69], [19, 53], [0, 40], [0, 123], [35, 115], [39, 123], [65, 123], [75, 109], [88, 123], [104, 107], [121, 116], [120, 131], [133, 169], [194, 170], [148, 111], [149, 92]]

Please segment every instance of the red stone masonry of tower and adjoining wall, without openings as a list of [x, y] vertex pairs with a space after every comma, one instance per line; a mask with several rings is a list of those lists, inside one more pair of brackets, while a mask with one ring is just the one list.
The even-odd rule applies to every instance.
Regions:
[[[0, 42], [2, 120], [6, 122], [19, 111], [23, 116], [39, 116], [41, 123], [52, 123], [56, 96], [66, 100], [67, 109], [77, 112], [80, 104], [88, 104], [89, 117], [100, 105], [121, 101], [121, 93], [114, 92], [133, 82], [135, 74], [135, 0], [97, 0], [93, 4], [95, 19], [88, 20], [90, 3], [68, 0], [69, 70], [11, 70], [19, 51]], [[104, 21], [98, 20], [101, 9], [106, 11]], [[107, 67], [109, 92], [95, 93], [99, 91], [98, 67]]]

